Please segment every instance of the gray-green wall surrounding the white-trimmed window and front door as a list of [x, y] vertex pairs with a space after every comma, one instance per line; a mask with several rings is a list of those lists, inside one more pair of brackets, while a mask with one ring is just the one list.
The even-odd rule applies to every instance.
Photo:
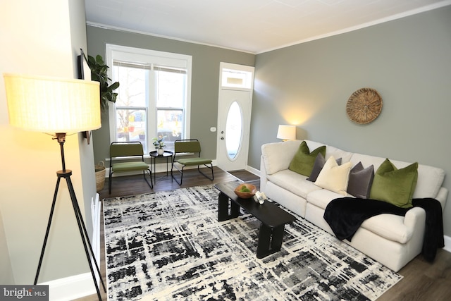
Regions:
[[[216, 133], [211, 133], [210, 128], [217, 126], [219, 63], [223, 61], [254, 66], [254, 54], [87, 26], [88, 54], [100, 54], [105, 58], [105, 44], [192, 56], [191, 137], [202, 142], [202, 156], [216, 158]], [[94, 160], [104, 161], [109, 157], [111, 143], [107, 113], [102, 115], [102, 127], [95, 130], [93, 135]]]

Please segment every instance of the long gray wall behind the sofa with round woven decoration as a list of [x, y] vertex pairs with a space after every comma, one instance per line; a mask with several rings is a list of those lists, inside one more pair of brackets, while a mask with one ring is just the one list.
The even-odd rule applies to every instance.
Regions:
[[[261, 145], [278, 141], [278, 124], [292, 123], [298, 139], [441, 167], [451, 190], [450, 54], [451, 6], [258, 54], [249, 166], [259, 169]], [[362, 87], [383, 98], [368, 125], [352, 123], [345, 111]]]

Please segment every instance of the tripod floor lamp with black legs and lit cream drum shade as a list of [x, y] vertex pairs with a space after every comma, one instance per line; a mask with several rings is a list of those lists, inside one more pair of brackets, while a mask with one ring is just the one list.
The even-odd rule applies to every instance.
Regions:
[[58, 188], [61, 178], [63, 178], [68, 185], [70, 200], [73, 205], [75, 219], [77, 219], [83, 246], [85, 247], [87, 262], [91, 269], [97, 296], [101, 300], [99, 285], [97, 284], [89, 252], [92, 254], [92, 261], [97, 268], [97, 273], [105, 292], [106, 288], [101, 278], [99, 265], [94, 257], [85, 222], [83, 221], [72, 181], [70, 180], [72, 171], [66, 169], [66, 161], [64, 159], [66, 133], [95, 130], [101, 126], [99, 82], [13, 74], [4, 74], [4, 81], [6, 98], [8, 100], [9, 123], [25, 130], [51, 133], [53, 139], [58, 141], [61, 151], [62, 170], [56, 172], [58, 179], [34, 284], [37, 284], [37, 279], [39, 278], [47, 238], [49, 238], [51, 221], [54, 216]]

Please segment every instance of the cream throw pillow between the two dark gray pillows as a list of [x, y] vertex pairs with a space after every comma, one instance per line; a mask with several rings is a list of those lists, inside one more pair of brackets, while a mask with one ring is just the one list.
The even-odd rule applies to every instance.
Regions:
[[347, 182], [350, 178], [351, 162], [338, 165], [333, 156], [327, 159], [315, 184], [321, 188], [347, 195]]

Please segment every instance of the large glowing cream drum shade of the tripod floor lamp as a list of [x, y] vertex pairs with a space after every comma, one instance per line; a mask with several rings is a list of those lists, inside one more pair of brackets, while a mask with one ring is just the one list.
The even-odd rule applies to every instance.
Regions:
[[4, 74], [9, 123], [43, 133], [101, 127], [99, 82]]

